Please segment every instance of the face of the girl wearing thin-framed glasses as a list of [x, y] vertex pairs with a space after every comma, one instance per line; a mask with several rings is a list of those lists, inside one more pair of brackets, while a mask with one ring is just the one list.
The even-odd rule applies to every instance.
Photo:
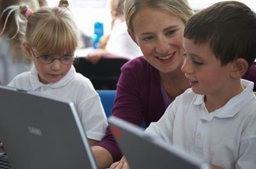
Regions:
[[[41, 60], [49, 60], [49, 55], [38, 53], [37, 50], [31, 49], [30, 47], [25, 47], [25, 49], [27, 56], [30, 57], [34, 63], [35, 68], [37, 69], [38, 78], [41, 83], [48, 84], [58, 82], [67, 74], [67, 72], [69, 72], [70, 68], [72, 67], [74, 58], [66, 56], [73, 56], [73, 53], [63, 53], [61, 56], [58, 54], [52, 55], [50, 57], [55, 58], [55, 60], [52, 63], [44, 64], [38, 57], [41, 57]], [[30, 52], [27, 50], [30, 50]], [[58, 59], [61, 57], [62, 61]]]

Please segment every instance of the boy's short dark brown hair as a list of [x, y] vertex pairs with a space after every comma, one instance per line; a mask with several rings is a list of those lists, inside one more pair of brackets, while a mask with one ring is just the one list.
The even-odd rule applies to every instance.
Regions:
[[256, 14], [241, 2], [218, 2], [191, 17], [184, 37], [208, 43], [222, 65], [244, 58], [250, 66], [256, 57]]

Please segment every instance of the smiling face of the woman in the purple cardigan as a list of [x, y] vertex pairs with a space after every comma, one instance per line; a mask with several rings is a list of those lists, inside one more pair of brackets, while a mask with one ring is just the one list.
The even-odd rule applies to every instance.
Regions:
[[183, 21], [163, 9], [143, 8], [131, 21], [131, 38], [140, 46], [148, 63], [162, 73], [180, 69], [183, 64]]

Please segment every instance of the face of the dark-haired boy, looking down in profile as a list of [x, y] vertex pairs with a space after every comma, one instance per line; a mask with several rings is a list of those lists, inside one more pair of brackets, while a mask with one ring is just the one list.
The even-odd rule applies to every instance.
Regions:
[[228, 91], [232, 79], [231, 65], [221, 65], [208, 44], [195, 45], [193, 40], [184, 38], [186, 59], [182, 71], [189, 79], [190, 86], [197, 94], [222, 94]]

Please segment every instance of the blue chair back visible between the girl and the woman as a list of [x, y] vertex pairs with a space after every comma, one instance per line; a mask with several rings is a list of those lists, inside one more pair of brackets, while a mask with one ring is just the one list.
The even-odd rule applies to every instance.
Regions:
[[111, 111], [116, 97], [116, 90], [97, 90], [97, 92], [101, 98], [106, 117], [111, 116]]

